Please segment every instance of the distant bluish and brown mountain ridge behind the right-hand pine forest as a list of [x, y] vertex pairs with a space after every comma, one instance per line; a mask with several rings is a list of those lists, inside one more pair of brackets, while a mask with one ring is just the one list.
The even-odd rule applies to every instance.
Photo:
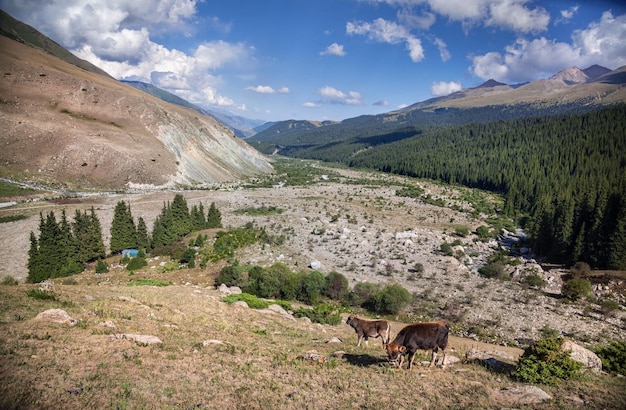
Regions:
[[[340, 122], [287, 120], [273, 124], [248, 139], [262, 143], [264, 152], [282, 153], [354, 139], [375, 138], [377, 144], [415, 135], [430, 127], [487, 123], [539, 115], [583, 113], [626, 102], [626, 66], [617, 70], [593, 65], [576, 67], [524, 84], [488, 80], [478, 87], [457, 91], [379, 115], [364, 115]], [[260, 149], [260, 148], [259, 148]]]

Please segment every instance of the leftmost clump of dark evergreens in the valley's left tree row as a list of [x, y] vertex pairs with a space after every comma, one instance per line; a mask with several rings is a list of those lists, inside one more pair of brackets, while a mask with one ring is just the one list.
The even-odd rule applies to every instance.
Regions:
[[100, 221], [91, 208], [76, 211], [69, 222], [65, 210], [57, 222], [54, 212], [40, 214], [39, 237], [30, 233], [28, 282], [70, 276], [84, 269], [84, 264], [106, 256]]

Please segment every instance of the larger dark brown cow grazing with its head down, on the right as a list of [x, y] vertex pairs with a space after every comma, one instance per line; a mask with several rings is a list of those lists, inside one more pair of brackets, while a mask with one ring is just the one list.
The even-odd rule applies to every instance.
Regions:
[[387, 355], [391, 363], [397, 363], [398, 358], [400, 364], [398, 368], [402, 368], [404, 356], [409, 355], [409, 369], [413, 367], [413, 360], [417, 349], [432, 350], [432, 358], [429, 368], [435, 365], [437, 350], [443, 350], [443, 362], [441, 367], [446, 365], [446, 349], [448, 348], [448, 333], [450, 325], [445, 321], [413, 323], [405, 326], [396, 336], [393, 342], [385, 345]]

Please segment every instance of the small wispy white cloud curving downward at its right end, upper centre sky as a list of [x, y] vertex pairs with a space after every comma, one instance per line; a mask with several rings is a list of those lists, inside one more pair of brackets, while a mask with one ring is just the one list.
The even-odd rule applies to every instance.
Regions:
[[363, 35], [379, 43], [398, 44], [404, 42], [412, 61], [418, 62], [424, 58], [422, 42], [406, 28], [392, 21], [378, 18], [371, 23], [348, 22], [346, 33], [349, 35]]

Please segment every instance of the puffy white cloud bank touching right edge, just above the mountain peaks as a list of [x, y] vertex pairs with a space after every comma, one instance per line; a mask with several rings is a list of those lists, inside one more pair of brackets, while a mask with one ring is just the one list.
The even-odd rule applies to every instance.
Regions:
[[600, 21], [577, 30], [572, 42], [545, 37], [518, 39], [503, 53], [489, 52], [472, 57], [470, 72], [482, 79], [505, 83], [532, 81], [552, 75], [564, 67], [586, 68], [599, 64], [611, 69], [626, 64], [626, 15], [605, 12]]

